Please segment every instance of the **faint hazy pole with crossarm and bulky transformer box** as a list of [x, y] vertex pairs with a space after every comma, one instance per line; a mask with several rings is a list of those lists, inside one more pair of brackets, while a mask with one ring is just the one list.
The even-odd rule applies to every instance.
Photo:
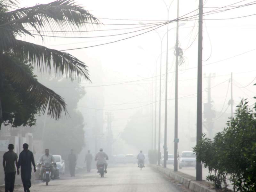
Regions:
[[213, 138], [213, 121], [212, 119], [216, 117], [215, 111], [212, 110], [212, 99], [211, 99], [211, 80], [215, 77], [215, 74], [209, 74], [209, 76], [205, 76], [208, 81], [207, 88], [207, 103], [204, 103], [204, 118], [206, 118], [207, 123], [207, 131], [209, 133], [209, 138]]

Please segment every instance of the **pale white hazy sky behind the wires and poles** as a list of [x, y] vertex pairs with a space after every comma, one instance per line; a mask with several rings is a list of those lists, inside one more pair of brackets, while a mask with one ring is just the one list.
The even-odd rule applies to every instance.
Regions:
[[[51, 0], [20, 0], [21, 6], [32, 6], [36, 3], [48, 3]], [[153, 23], [160, 21], [152, 20], [166, 20], [167, 11], [166, 7], [161, 0], [77, 0], [78, 4], [81, 4], [85, 9], [89, 10], [98, 18], [112, 18], [112, 19], [133, 19], [133, 21], [127, 20], [107, 20], [99, 19], [101, 23], [105, 25], [94, 26], [95, 30], [99, 29], [123, 29], [138, 27], [138, 20], [151, 20], [142, 21], [144, 23]], [[170, 4], [171, 1], [166, 0], [166, 4]], [[204, 12], [213, 10], [213, 7], [226, 6], [232, 3], [238, 2], [238, 0], [205, 0]], [[251, 0], [245, 0], [240, 4], [250, 3]], [[170, 9], [170, 20], [176, 18], [176, 6], [177, 1], [174, 0]], [[180, 16], [196, 10], [198, 7], [198, 0], [180, 0]], [[244, 8], [238, 8], [235, 10], [211, 14], [204, 17], [204, 47], [203, 47], [203, 59], [207, 60], [203, 62], [203, 73], [208, 75], [209, 73], [215, 73], [216, 77], [212, 78], [212, 100], [213, 106], [216, 111], [220, 111], [224, 106], [224, 109], [228, 107], [228, 100], [230, 98], [230, 86], [228, 90], [228, 98], [224, 103], [227, 89], [228, 79], [230, 73], [233, 72], [234, 78], [234, 100], [235, 104], [238, 104], [241, 98], [250, 98], [255, 96], [255, 87], [249, 85], [246, 88], [240, 88], [246, 86], [255, 78], [255, 51], [242, 54], [240, 56], [231, 58], [241, 53], [255, 49], [255, 17], [244, 17], [240, 19], [223, 20], [227, 18], [234, 18], [240, 16], [246, 16], [255, 14], [256, 5], [247, 6]], [[193, 12], [190, 15], [195, 15], [197, 12]], [[215, 20], [219, 19], [219, 20]], [[195, 128], [196, 124], [196, 77], [197, 77], [197, 38], [198, 32], [197, 21], [182, 21], [182, 27], [180, 27], [180, 47], [184, 51], [185, 63], [179, 67], [179, 97], [188, 96], [179, 100], [179, 135], [188, 131], [188, 125]], [[109, 24], [122, 24], [122, 25], [109, 25]], [[123, 25], [126, 24], [126, 25]], [[127, 25], [129, 24], [129, 25]], [[185, 24], [185, 25], [184, 25]], [[195, 26], [195, 27], [194, 27]], [[174, 71], [174, 55], [173, 47], [175, 45], [176, 33], [175, 23], [171, 23], [169, 28], [174, 28], [169, 32], [169, 72]], [[92, 30], [90, 27], [88, 30]], [[98, 31], [88, 32], [78, 35], [72, 33], [67, 36], [102, 36], [113, 35], [140, 28], [129, 30], [112, 30], [112, 31]], [[166, 26], [158, 28], [156, 30], [160, 36], [163, 36], [166, 32]], [[144, 31], [141, 31], [144, 32]], [[23, 40], [36, 42], [43, 44], [47, 47], [63, 50], [77, 47], [92, 46], [96, 44], [107, 43], [116, 41], [126, 37], [130, 37], [137, 33], [131, 33], [127, 35], [110, 36], [102, 38], [46, 38], [44, 42], [41, 39], [30, 37], [24, 37]], [[62, 36], [63, 34], [55, 34]], [[196, 39], [195, 39], [196, 38]], [[194, 41], [195, 40], [195, 41]], [[192, 44], [192, 42], [194, 43]], [[192, 44], [192, 45], [191, 45]], [[156, 76], [155, 65], [156, 59], [160, 55], [160, 40], [155, 31], [146, 33], [141, 36], [133, 37], [124, 41], [120, 41], [113, 44], [97, 46], [93, 48], [80, 49], [68, 51], [72, 55], [76, 56], [80, 60], [84, 61], [90, 70], [90, 76], [92, 84], [82, 82], [81, 86], [95, 86], [95, 85], [108, 85], [118, 82], [129, 82]], [[191, 45], [189, 47], [189, 45]], [[166, 38], [163, 41], [163, 60], [162, 67], [163, 73], [165, 70], [166, 62]], [[189, 47], [189, 48], [188, 48]], [[188, 48], [188, 49], [187, 49]], [[228, 59], [230, 58], [230, 59]], [[224, 60], [227, 59], [227, 60]], [[216, 61], [220, 61], [217, 62]], [[209, 64], [209, 65], [207, 65]], [[102, 66], [102, 69], [100, 69]], [[157, 60], [157, 75], [159, 75], [160, 59]], [[192, 68], [192, 69], [191, 69]], [[101, 71], [101, 72], [100, 72]], [[168, 99], [174, 98], [174, 73], [169, 73], [168, 80]], [[163, 76], [162, 90], [164, 89]], [[223, 83], [224, 82], [224, 83]], [[218, 85], [219, 84], [219, 85]], [[217, 85], [217, 86], [216, 86]], [[72, 86], [72, 85], [71, 85]], [[154, 85], [155, 87], [155, 85]], [[203, 82], [204, 91], [207, 88], [207, 81]], [[66, 88], [68, 89], [68, 88]], [[129, 117], [135, 113], [137, 107], [147, 105], [152, 102], [152, 79], [146, 79], [143, 81], [131, 82], [127, 84], [105, 86], [105, 87], [90, 87], [85, 88], [87, 95], [90, 96], [90, 92], [97, 94], [98, 89], [104, 89], [104, 111], [113, 111], [115, 120], [113, 131], [117, 135], [124, 129]], [[155, 90], [155, 88], [154, 88]], [[194, 94], [194, 95], [193, 95]], [[155, 95], [154, 95], [155, 98]], [[162, 92], [162, 99], [164, 99], [164, 92]], [[157, 78], [157, 100], [159, 100], [159, 77]], [[207, 93], [203, 93], [203, 101], [207, 101]], [[97, 102], [97, 101], [96, 101]], [[250, 102], [252, 103], [252, 102]], [[122, 104], [122, 105], [120, 105]], [[158, 111], [157, 103], [157, 111]], [[79, 104], [82, 112], [88, 112], [87, 108], [95, 108], [91, 103], [87, 103], [86, 99], [82, 100]], [[162, 109], [164, 108], [164, 102], [162, 102]], [[174, 120], [174, 100], [168, 102], [168, 142], [172, 144], [173, 140], [173, 120]], [[83, 108], [84, 107], [84, 108]], [[150, 105], [146, 108], [150, 109]], [[134, 108], [129, 110], [119, 110], [124, 108]], [[106, 109], [106, 110], [105, 110]], [[230, 108], [227, 110], [230, 112]], [[164, 110], [162, 113], [164, 117]], [[158, 116], [158, 115], [157, 115]], [[186, 119], [186, 121], [183, 121]], [[164, 124], [162, 124], [164, 125]], [[191, 130], [190, 130], [191, 131]], [[190, 133], [191, 137], [196, 135], [196, 132]], [[179, 136], [182, 137], [182, 136]], [[184, 149], [185, 150], [185, 149]]]

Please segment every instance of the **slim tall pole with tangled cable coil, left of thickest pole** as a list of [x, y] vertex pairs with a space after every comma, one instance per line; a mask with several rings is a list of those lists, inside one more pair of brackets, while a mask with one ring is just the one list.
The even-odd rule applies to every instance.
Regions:
[[[179, 18], [179, 0], [177, 1], [177, 18]], [[179, 70], [179, 20], [176, 26], [176, 45], [175, 45], [175, 117], [174, 117], [174, 171], [178, 171], [178, 70]]]

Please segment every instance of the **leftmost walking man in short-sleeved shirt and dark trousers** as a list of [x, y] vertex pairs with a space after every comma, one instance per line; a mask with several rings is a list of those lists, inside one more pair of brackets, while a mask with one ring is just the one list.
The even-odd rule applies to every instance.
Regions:
[[13, 152], [14, 145], [9, 144], [8, 149], [9, 151], [5, 152], [3, 156], [5, 192], [13, 192], [16, 175], [14, 163], [17, 167], [17, 174], [19, 175], [20, 172], [18, 169], [18, 156]]

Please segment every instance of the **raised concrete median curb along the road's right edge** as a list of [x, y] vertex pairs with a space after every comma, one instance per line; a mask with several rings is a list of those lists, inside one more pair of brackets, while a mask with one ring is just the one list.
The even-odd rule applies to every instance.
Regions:
[[[178, 181], [180, 184], [185, 186], [186, 188], [190, 189], [191, 191], [195, 192], [216, 192], [216, 190], [211, 189], [209, 186], [211, 186], [208, 182], [198, 182], [194, 179], [194, 177], [187, 175], [187, 174], [181, 174], [179, 172], [174, 172], [172, 169], [169, 168], [163, 168], [158, 165], [150, 165], [155, 170], [158, 170], [159, 172], [163, 173], [164, 175], [168, 176], [171, 179], [174, 179]], [[186, 177], [187, 175], [187, 177]], [[193, 179], [191, 179], [193, 178]], [[202, 184], [204, 183], [204, 184]]]

